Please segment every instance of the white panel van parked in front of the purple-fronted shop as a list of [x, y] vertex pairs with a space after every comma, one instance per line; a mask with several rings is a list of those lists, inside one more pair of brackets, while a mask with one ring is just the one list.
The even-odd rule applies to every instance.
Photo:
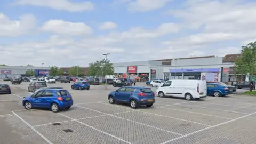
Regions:
[[202, 80], [169, 80], [156, 89], [159, 97], [172, 96], [186, 100], [205, 98], [207, 95], [206, 81]]

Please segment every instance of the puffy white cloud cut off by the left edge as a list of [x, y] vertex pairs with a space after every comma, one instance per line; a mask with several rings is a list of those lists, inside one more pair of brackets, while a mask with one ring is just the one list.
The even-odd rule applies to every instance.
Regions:
[[11, 20], [3, 13], [0, 13], [0, 37], [20, 36], [29, 33], [36, 26], [36, 18], [31, 14], [22, 15], [20, 21]]

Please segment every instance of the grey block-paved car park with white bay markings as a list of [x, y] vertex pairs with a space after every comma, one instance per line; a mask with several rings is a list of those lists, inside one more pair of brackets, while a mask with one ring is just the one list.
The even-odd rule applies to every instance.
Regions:
[[[1, 82], [8, 83], [10, 82]], [[0, 143], [255, 143], [256, 100], [230, 95], [187, 101], [158, 98], [153, 107], [132, 109], [110, 105], [108, 85], [71, 90], [69, 110], [26, 110], [22, 99], [28, 82], [11, 85], [12, 94], [0, 94]], [[141, 84], [142, 85], [142, 84]], [[155, 89], [155, 88], [154, 88]]]

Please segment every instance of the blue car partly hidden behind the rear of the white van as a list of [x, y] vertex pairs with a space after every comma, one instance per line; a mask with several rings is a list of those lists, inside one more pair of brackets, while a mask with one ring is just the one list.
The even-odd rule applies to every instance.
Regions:
[[220, 83], [207, 83], [207, 95], [213, 95], [214, 97], [220, 97], [230, 94], [232, 91], [229, 90], [227, 85]]

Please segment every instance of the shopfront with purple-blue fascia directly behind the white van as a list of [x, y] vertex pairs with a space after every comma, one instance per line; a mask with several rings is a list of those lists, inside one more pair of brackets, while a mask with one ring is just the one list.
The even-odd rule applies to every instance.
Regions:
[[220, 81], [219, 72], [219, 68], [170, 69], [171, 79], [202, 79], [206, 81]]

